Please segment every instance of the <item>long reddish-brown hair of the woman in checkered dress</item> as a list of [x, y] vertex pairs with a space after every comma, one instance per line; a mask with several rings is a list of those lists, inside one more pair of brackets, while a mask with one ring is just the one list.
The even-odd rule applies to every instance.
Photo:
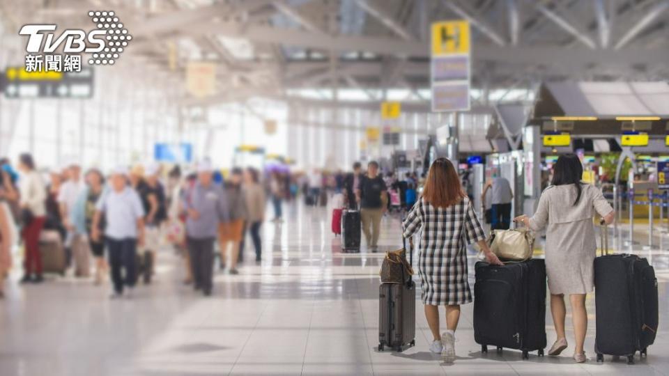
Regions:
[[455, 167], [446, 158], [438, 158], [427, 173], [423, 198], [436, 207], [449, 207], [465, 197]]

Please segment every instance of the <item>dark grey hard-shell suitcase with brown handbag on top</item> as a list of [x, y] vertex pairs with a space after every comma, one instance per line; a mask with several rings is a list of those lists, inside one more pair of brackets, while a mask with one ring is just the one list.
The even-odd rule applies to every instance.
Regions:
[[414, 346], [416, 335], [416, 284], [381, 283], [378, 287], [378, 351], [385, 347], [402, 352]]

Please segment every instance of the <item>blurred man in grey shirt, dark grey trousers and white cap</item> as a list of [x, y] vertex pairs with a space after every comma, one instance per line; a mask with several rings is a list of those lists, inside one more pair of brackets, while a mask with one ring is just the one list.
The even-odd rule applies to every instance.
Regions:
[[195, 290], [211, 295], [213, 288], [214, 242], [218, 225], [228, 220], [226, 193], [213, 182], [209, 162], [197, 167], [197, 182], [185, 189], [183, 207], [187, 213], [186, 237]]

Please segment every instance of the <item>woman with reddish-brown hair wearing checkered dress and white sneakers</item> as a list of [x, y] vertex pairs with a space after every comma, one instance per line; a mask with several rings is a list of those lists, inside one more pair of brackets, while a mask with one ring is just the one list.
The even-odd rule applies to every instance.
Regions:
[[[430, 166], [422, 197], [404, 220], [403, 229], [404, 237], [422, 229], [418, 272], [425, 317], [434, 336], [430, 350], [453, 361], [460, 304], [472, 301], [466, 245], [477, 242], [490, 263], [501, 263], [488, 248], [472, 203], [448, 159], [436, 159]], [[438, 306], [446, 306], [448, 330], [443, 335], [439, 334]]]

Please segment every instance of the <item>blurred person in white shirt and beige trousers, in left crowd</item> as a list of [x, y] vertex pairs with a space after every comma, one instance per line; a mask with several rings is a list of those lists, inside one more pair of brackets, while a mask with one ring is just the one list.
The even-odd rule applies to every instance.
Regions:
[[77, 162], [72, 162], [72, 164], [67, 166], [65, 173], [68, 180], [61, 185], [58, 197], [56, 198], [63, 224], [68, 230], [65, 246], [74, 256], [75, 276], [86, 277], [90, 274], [89, 243], [86, 240], [86, 234], [78, 234], [75, 226], [72, 226], [72, 223], [70, 223], [70, 212], [77, 205], [79, 195], [86, 189], [86, 184], [82, 179], [82, 168]]

